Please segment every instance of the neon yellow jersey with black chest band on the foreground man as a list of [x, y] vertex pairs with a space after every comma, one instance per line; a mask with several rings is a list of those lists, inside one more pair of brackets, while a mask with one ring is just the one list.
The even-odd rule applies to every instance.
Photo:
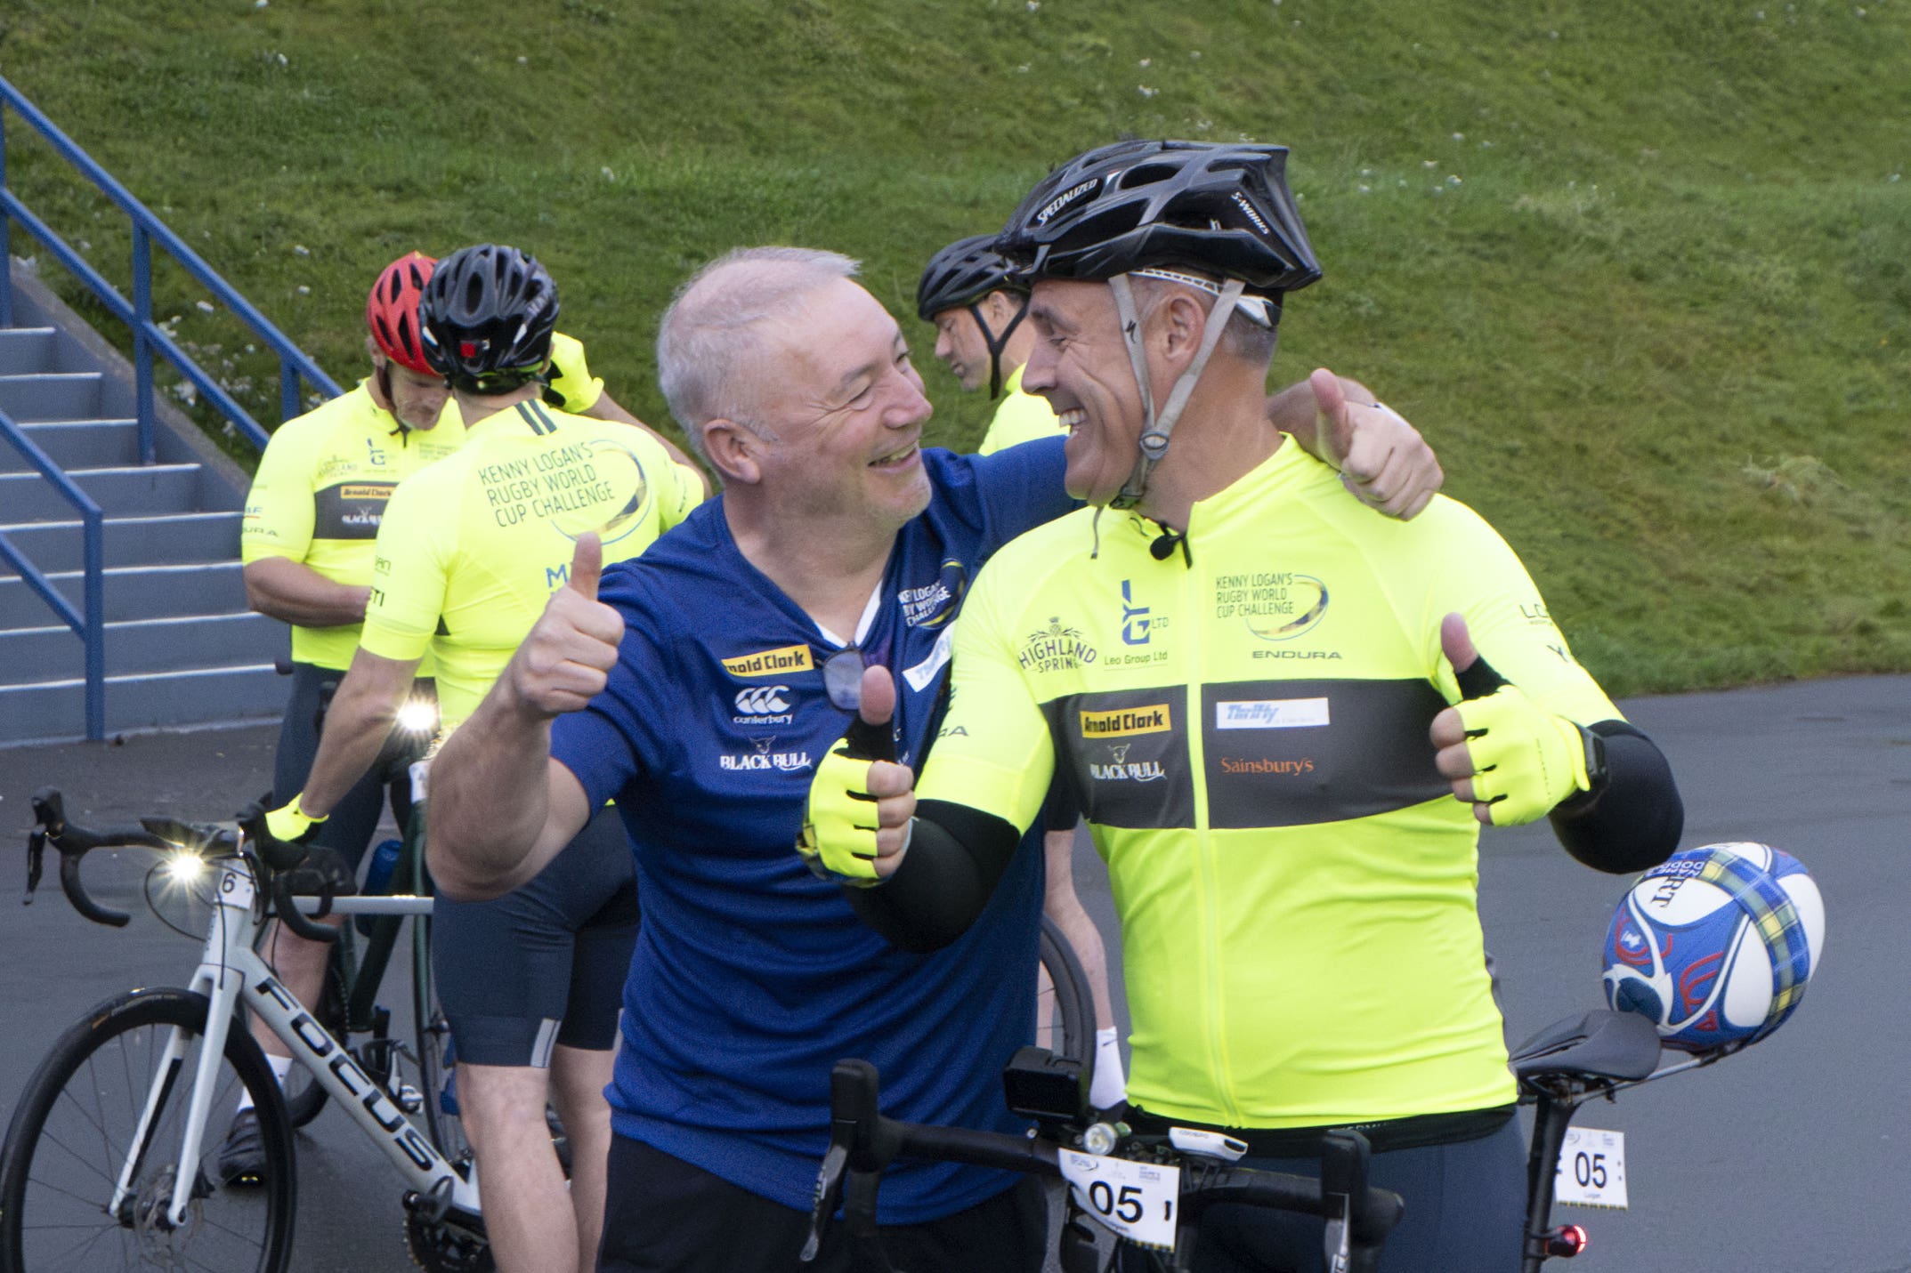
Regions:
[[1441, 618], [1542, 708], [1619, 718], [1519, 559], [1447, 498], [1372, 513], [1298, 445], [1162, 557], [1095, 517], [978, 574], [919, 794], [1026, 828], [1061, 769], [1122, 922], [1129, 1097], [1238, 1128], [1512, 1103], [1479, 824], [1428, 739], [1460, 697]]

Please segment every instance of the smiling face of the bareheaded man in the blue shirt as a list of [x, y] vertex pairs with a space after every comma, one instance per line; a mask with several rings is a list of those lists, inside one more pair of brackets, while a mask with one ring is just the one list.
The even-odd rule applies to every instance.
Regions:
[[929, 508], [931, 407], [889, 311], [848, 279], [816, 288], [772, 336], [762, 483], [791, 510], [902, 527]]

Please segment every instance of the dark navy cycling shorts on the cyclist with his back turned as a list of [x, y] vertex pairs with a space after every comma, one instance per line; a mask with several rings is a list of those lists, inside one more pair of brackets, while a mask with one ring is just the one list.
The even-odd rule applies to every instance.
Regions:
[[631, 842], [610, 805], [524, 887], [436, 897], [432, 975], [457, 1059], [545, 1069], [552, 1044], [615, 1044], [636, 920]]

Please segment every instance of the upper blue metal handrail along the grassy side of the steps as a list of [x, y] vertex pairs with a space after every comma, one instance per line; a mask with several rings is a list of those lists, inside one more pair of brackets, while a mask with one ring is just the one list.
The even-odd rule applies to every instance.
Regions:
[[[34, 132], [46, 137], [54, 151], [76, 168], [88, 181], [97, 185], [120, 212], [132, 218], [132, 302], [105, 281], [78, 252], [55, 235], [40, 218], [27, 210], [27, 204], [6, 185], [6, 107], [11, 107]], [[233, 424], [254, 447], [264, 449], [268, 433], [260, 424], [231, 399], [220, 382], [206, 374], [172, 336], [153, 323], [153, 244], [159, 244], [174, 261], [185, 267], [193, 279], [216, 296], [241, 323], [252, 328], [254, 336], [279, 355], [279, 418], [290, 420], [300, 414], [300, 386], [311, 384], [325, 397], [338, 397], [338, 384], [333, 382], [304, 349], [287, 340], [285, 332], [273, 326], [266, 315], [252, 307], [225, 279], [212, 271], [183, 239], [166, 227], [153, 212], [132, 197], [124, 185], [113, 179], [105, 168], [59, 132], [46, 115], [38, 111], [17, 88], [0, 78], [0, 326], [13, 323], [11, 281], [6, 261], [10, 256], [10, 227], [19, 221], [54, 258], [71, 269], [96, 298], [132, 328], [134, 347], [134, 397], [140, 418], [140, 462], [153, 464], [153, 351], [185, 376], [199, 393]]]

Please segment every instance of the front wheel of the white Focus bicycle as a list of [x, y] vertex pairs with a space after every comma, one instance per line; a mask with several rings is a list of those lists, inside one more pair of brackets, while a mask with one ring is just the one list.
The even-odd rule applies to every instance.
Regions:
[[[206, 1012], [203, 994], [134, 991], [107, 1000], [54, 1044], [0, 1151], [0, 1271], [285, 1269], [296, 1199], [292, 1130], [271, 1067], [237, 1017], [224, 1057], [214, 1059], [218, 1075], [199, 1160], [189, 1166], [195, 1183], [185, 1221], [166, 1218], [193, 1076], [206, 1063]], [[166, 1063], [176, 1031], [185, 1036], [185, 1055]], [[256, 1189], [216, 1183], [241, 1084], [256, 1101], [266, 1151]], [[134, 1145], [155, 1090], [147, 1136]], [[130, 1189], [111, 1208], [128, 1157]]]

